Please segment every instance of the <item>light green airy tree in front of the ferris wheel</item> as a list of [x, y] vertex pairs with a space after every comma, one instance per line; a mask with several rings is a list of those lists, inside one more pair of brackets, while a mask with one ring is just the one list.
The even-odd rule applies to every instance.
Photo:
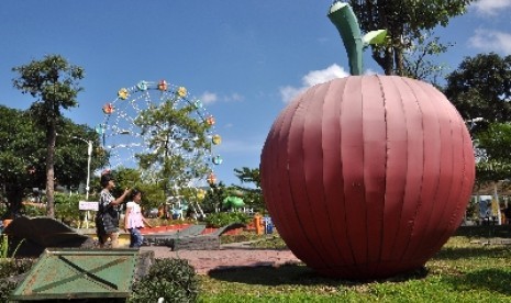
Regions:
[[204, 161], [211, 150], [208, 137], [211, 125], [191, 115], [197, 111], [193, 102], [176, 108], [177, 99], [184, 98], [179, 93], [143, 110], [134, 121], [142, 136], [151, 134], [147, 142], [151, 150], [136, 155], [140, 168], [160, 183], [165, 194], [175, 188], [187, 188], [192, 180], [211, 171]]

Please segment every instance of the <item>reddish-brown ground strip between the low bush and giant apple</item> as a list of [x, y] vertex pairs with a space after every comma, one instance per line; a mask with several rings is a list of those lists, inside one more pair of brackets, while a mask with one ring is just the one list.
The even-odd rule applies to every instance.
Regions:
[[273, 266], [301, 262], [290, 250], [256, 249], [247, 244], [222, 245], [219, 250], [177, 250], [166, 246], [143, 246], [141, 251], [153, 250], [155, 258], [187, 259], [198, 274], [210, 270], [236, 267]]

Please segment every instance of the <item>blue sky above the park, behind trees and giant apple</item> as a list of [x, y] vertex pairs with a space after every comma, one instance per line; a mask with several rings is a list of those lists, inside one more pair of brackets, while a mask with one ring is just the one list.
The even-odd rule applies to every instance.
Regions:
[[[222, 145], [219, 180], [256, 168], [271, 123], [300, 90], [347, 75], [347, 56], [326, 18], [331, 0], [2, 0], [0, 104], [35, 101], [12, 88], [14, 66], [59, 54], [85, 68], [76, 123], [100, 124], [103, 104], [141, 80], [184, 86], [214, 115]], [[511, 54], [511, 0], [480, 0], [435, 31], [455, 43], [440, 58], [451, 70], [466, 56]], [[381, 72], [369, 53], [364, 66]]]

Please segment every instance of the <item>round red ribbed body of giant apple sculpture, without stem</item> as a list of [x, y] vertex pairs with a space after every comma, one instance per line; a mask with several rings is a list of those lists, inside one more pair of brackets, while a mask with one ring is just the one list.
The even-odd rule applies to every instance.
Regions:
[[320, 273], [422, 267], [458, 227], [475, 177], [471, 139], [434, 87], [349, 76], [310, 88], [277, 117], [260, 162], [273, 221]]

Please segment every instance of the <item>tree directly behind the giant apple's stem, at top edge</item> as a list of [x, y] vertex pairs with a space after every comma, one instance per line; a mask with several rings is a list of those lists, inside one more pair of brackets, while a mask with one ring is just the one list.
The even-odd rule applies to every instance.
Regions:
[[387, 30], [385, 45], [371, 45], [373, 58], [386, 75], [404, 75], [404, 50], [414, 40], [437, 25], [446, 26], [449, 18], [465, 13], [474, 0], [349, 0], [364, 32]]

